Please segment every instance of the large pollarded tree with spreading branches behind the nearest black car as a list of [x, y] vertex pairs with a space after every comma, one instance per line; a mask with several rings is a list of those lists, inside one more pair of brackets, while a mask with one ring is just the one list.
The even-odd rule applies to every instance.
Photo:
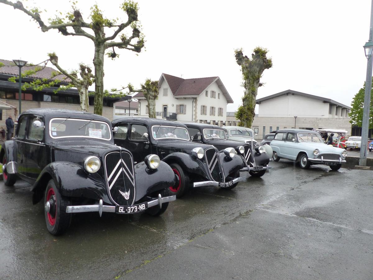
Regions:
[[[0, 3], [21, 10], [31, 16], [41, 28], [41, 31], [46, 32], [50, 29], [58, 30], [65, 36], [83, 36], [94, 44], [94, 83], [95, 83], [95, 98], [94, 98], [94, 113], [102, 115], [103, 97], [104, 97], [104, 56], [107, 49], [113, 49], [106, 53], [112, 59], [118, 57], [115, 53], [115, 47], [119, 49], [131, 50], [140, 53], [144, 47], [144, 36], [140, 31], [140, 22], [138, 21], [138, 5], [136, 2], [126, 0], [120, 5], [120, 9], [126, 12], [127, 21], [118, 23], [118, 19], [108, 19], [103, 16], [102, 11], [97, 4], [91, 7], [91, 13], [88, 20], [85, 20], [75, 6], [76, 2], [72, 2], [72, 11], [65, 16], [55, 16], [53, 19], [48, 19], [48, 24], [45, 24], [41, 19], [41, 10], [38, 8], [24, 7], [20, 1], [12, 2], [8, 0], [0, 0]], [[106, 36], [105, 31], [112, 30], [110, 36]], [[125, 33], [126, 29], [130, 29], [131, 35]], [[123, 32], [122, 32], [123, 31]], [[116, 38], [119, 40], [114, 41]]]

